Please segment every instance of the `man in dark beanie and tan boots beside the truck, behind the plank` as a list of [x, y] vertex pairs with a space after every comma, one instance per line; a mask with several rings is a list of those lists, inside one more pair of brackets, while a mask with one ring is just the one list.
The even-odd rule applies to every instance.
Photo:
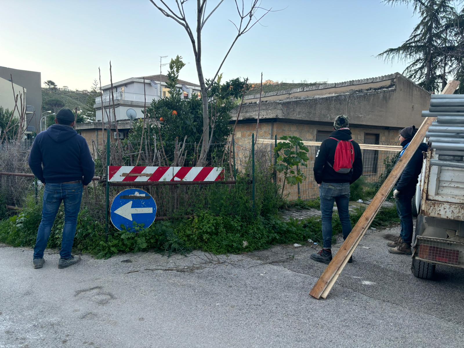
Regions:
[[[400, 157], [406, 151], [412, 138], [416, 134], [417, 129], [414, 126], [409, 126], [401, 129], [398, 139], [400, 140], [403, 149], [400, 152]], [[416, 185], [419, 174], [422, 170], [422, 162], [424, 155], [422, 151], [427, 151], [427, 144], [424, 142], [419, 145], [406, 168], [401, 173], [400, 179], [395, 185], [393, 196], [396, 201], [396, 210], [400, 216], [401, 233], [400, 236], [393, 242], [388, 242], [390, 247], [388, 251], [392, 254], [411, 255], [412, 242], [412, 198], [416, 193]]]

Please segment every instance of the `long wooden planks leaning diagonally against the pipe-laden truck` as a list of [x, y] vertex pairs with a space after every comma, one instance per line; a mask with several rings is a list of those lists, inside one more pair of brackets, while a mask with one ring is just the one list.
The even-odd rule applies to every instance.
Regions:
[[[442, 94], [453, 94], [454, 91], [458, 88], [458, 85], [459, 81], [450, 81], [446, 85]], [[356, 223], [351, 233], [348, 235], [348, 238], [345, 240], [345, 242], [340, 247], [340, 250], [336, 253], [335, 257], [330, 262], [329, 266], [327, 266], [319, 280], [309, 292], [309, 295], [317, 299], [321, 298], [321, 296], [322, 298], [327, 298], [338, 276], [342, 273], [343, 268], [347, 264], [348, 259], [351, 257], [354, 249], [356, 249], [356, 246], [359, 244], [361, 238], [364, 236], [367, 229], [371, 225], [383, 202], [387, 199], [388, 193], [390, 193], [393, 189], [393, 186], [395, 185], [403, 170], [406, 168], [406, 165], [408, 164], [412, 155], [414, 155], [414, 152], [419, 147], [419, 144], [425, 138], [425, 132], [433, 121], [435, 121], [435, 117], [427, 117], [424, 122], [422, 122], [422, 125], [418, 129], [405, 153], [403, 156], [401, 156], [400, 160], [395, 165], [390, 175], [388, 175], [387, 179], [380, 187], [377, 194], [374, 196], [372, 202], [369, 204], [369, 206], [367, 206], [367, 209], [364, 211], [361, 218]]]

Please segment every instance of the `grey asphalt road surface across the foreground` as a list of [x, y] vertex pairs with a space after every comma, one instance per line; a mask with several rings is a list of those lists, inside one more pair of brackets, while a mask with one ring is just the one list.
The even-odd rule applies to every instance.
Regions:
[[0, 347], [463, 347], [464, 272], [413, 277], [387, 233], [362, 239], [326, 300], [308, 295], [325, 267], [312, 246], [84, 255], [68, 269], [51, 251], [38, 270], [31, 250], [0, 247]]

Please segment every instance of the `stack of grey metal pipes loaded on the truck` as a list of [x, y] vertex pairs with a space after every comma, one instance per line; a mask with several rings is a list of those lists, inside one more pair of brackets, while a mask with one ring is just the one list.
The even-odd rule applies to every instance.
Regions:
[[437, 117], [425, 134], [438, 155], [430, 164], [464, 168], [464, 95], [432, 94], [429, 111], [422, 116]]

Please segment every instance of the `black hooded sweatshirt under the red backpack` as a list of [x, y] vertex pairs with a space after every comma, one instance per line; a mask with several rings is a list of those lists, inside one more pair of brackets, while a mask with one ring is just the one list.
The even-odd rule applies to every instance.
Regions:
[[[338, 129], [330, 134], [338, 140], [350, 140], [351, 130], [349, 129]], [[321, 144], [319, 151], [316, 155], [316, 161], [314, 161], [314, 178], [316, 182], [320, 184], [322, 181], [327, 183], [340, 183], [349, 182], [352, 184], [358, 180], [362, 174], [362, 155], [361, 149], [357, 142], [352, 141], [354, 147], [354, 163], [353, 170], [349, 173], [337, 173], [334, 168], [330, 167], [334, 165], [335, 148], [337, 147], [337, 141], [335, 139], [327, 138]], [[329, 164], [327, 163], [330, 163]]]

